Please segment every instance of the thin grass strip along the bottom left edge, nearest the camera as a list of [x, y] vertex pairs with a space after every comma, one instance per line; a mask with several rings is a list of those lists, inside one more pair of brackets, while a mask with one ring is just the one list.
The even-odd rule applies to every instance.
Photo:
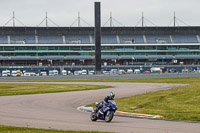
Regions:
[[108, 133], [108, 132], [96, 132], [96, 131], [59, 131], [51, 129], [36, 129], [14, 126], [0, 125], [0, 133]]

